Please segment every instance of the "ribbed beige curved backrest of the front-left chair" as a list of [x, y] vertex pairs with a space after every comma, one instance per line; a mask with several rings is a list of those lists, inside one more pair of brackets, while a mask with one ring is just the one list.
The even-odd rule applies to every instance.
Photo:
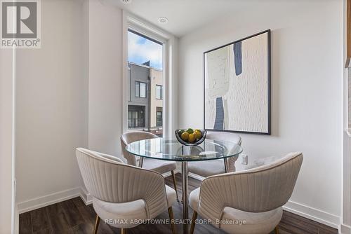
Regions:
[[76, 149], [76, 156], [86, 189], [94, 198], [105, 202], [143, 199], [150, 218], [167, 209], [161, 174], [126, 165], [119, 158], [88, 149]]

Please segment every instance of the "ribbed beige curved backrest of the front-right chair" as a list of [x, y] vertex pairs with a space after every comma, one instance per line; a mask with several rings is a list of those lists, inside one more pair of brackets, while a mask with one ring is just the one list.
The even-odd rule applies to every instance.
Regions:
[[244, 212], [282, 207], [293, 193], [302, 162], [302, 153], [289, 153], [269, 165], [208, 177], [201, 183], [199, 212], [215, 220], [224, 207]]

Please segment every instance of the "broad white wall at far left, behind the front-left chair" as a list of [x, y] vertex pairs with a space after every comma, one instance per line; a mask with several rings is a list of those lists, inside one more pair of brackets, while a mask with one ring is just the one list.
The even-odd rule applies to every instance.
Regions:
[[[41, 1], [41, 49], [18, 50], [16, 177], [20, 209], [60, 198], [55, 193], [82, 184], [74, 152], [76, 147], [88, 146], [82, 4]], [[67, 194], [71, 193], [62, 193]]]

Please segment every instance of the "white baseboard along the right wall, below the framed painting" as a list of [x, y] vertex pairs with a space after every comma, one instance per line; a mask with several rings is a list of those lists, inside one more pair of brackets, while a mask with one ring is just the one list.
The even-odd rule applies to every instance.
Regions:
[[[189, 173], [189, 177], [194, 179], [198, 179], [202, 181], [204, 177], [199, 176], [198, 174]], [[329, 214], [319, 209], [314, 209], [312, 207], [308, 207], [306, 205], [300, 204], [298, 202], [293, 202], [289, 200], [283, 207], [284, 210], [291, 212], [293, 214], [298, 214], [307, 219], [312, 219], [313, 221], [317, 221], [319, 223], [323, 223], [327, 226], [331, 226], [332, 228], [339, 229], [340, 226], [340, 216], [336, 216], [334, 214]], [[345, 228], [345, 233], [347, 233], [347, 226]], [[343, 233], [343, 232], [342, 232]], [[351, 234], [348, 232], [347, 234]]]

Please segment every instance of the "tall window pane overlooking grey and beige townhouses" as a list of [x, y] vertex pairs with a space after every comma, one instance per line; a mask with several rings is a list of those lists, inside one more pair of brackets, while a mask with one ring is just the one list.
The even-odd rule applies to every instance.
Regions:
[[[128, 128], [162, 136], [164, 44], [128, 29]], [[156, 92], [155, 92], [156, 91]]]

